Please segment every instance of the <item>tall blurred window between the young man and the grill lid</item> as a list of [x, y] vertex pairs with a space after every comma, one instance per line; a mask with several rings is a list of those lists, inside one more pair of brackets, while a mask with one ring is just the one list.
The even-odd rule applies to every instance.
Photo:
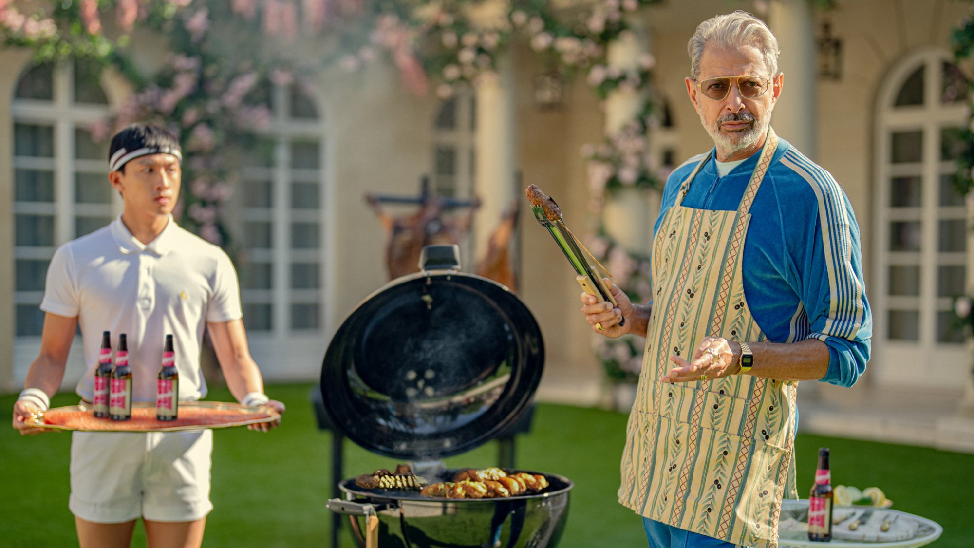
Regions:
[[[240, 215], [233, 222], [244, 252], [237, 264], [244, 323], [255, 335], [254, 357], [267, 362], [274, 348], [279, 356], [300, 354], [298, 339], [319, 343], [325, 331], [330, 206], [324, 125], [314, 98], [298, 83], [265, 82], [255, 93], [270, 105], [271, 123], [243, 156], [235, 192]], [[311, 359], [319, 349], [310, 352]]]

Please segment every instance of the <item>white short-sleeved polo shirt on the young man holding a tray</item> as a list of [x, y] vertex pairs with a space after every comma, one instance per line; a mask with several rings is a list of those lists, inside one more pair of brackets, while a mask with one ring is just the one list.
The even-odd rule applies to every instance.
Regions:
[[171, 333], [179, 370], [179, 399], [206, 396], [200, 370], [200, 345], [206, 322], [243, 316], [237, 272], [230, 257], [176, 225], [169, 224], [143, 245], [122, 216], [108, 226], [57, 249], [48, 268], [41, 310], [78, 316], [87, 371], [77, 392], [94, 395], [101, 332], [126, 333], [132, 377], [132, 402], [154, 402], [163, 342]]

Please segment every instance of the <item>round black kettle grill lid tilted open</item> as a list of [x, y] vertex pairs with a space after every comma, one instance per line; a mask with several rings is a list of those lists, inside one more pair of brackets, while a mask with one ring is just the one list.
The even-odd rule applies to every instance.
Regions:
[[513, 425], [541, 381], [542, 333], [486, 278], [421, 272], [369, 295], [321, 367], [325, 411], [357, 445], [425, 460], [471, 450]]

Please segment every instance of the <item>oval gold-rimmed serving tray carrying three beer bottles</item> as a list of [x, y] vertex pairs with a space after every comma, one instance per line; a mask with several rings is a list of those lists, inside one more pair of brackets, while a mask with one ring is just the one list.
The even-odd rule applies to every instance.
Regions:
[[230, 402], [179, 402], [174, 421], [156, 420], [156, 406], [132, 404], [130, 420], [95, 418], [90, 405], [55, 408], [34, 414], [29, 426], [81, 432], [174, 432], [203, 428], [230, 428], [280, 420], [281, 414], [267, 406], [247, 407]]

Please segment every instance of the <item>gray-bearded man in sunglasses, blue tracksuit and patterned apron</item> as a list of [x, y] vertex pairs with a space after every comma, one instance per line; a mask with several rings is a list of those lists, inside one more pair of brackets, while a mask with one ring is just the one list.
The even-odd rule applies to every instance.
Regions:
[[714, 147], [666, 181], [654, 300], [613, 286], [616, 307], [582, 294], [581, 311], [595, 333], [647, 337], [618, 498], [650, 545], [773, 548], [797, 496], [799, 381], [851, 386], [869, 361], [859, 227], [836, 180], [770, 128], [784, 76], [768, 26], [717, 16], [688, 49]]

